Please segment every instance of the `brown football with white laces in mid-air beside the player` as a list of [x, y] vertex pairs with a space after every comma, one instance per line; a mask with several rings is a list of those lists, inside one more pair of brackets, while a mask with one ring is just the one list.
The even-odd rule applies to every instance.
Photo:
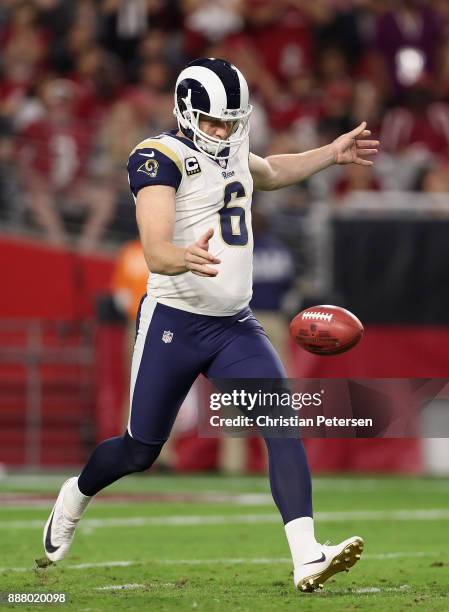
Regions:
[[338, 355], [355, 346], [363, 335], [358, 318], [339, 306], [311, 306], [290, 323], [300, 347], [317, 355]]

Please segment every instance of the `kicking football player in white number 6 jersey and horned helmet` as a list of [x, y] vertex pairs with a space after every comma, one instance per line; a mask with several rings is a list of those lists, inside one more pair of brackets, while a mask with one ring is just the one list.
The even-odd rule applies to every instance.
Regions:
[[[204, 58], [180, 73], [178, 130], [131, 152], [129, 184], [151, 275], [137, 318], [126, 433], [102, 442], [79, 477], [67, 480], [44, 529], [62, 559], [91, 498], [149, 468], [199, 374], [211, 379], [284, 379], [284, 367], [248, 307], [252, 284], [251, 195], [297, 183], [331, 164], [369, 166], [379, 142], [366, 123], [327, 146], [265, 159], [249, 150], [248, 86], [225, 60]], [[363, 540], [315, 540], [311, 478], [299, 438], [265, 439], [270, 485], [294, 565], [313, 591], [360, 558]]]

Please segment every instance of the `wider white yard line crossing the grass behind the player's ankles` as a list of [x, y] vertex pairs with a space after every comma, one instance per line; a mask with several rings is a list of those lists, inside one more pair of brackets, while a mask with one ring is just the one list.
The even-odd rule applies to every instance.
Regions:
[[[425, 510], [353, 510], [347, 512], [317, 512], [317, 521], [340, 523], [348, 521], [436, 521], [448, 520], [449, 509]], [[269, 514], [194, 514], [180, 516], [135, 516], [128, 518], [85, 518], [79, 529], [92, 532], [110, 527], [193, 527], [202, 525], [246, 525], [281, 523], [280, 515]], [[0, 521], [0, 529], [41, 529], [42, 520]]]

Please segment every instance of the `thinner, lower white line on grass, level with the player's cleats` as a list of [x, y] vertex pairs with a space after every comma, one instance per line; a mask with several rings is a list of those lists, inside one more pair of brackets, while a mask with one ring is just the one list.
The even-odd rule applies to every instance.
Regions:
[[[395, 552], [395, 553], [364, 553], [363, 559], [372, 561], [384, 561], [388, 559], [412, 559], [414, 557], [435, 557], [437, 552]], [[64, 570], [85, 570], [101, 567], [131, 567], [135, 565], [274, 565], [276, 563], [291, 564], [290, 557], [229, 557], [229, 558], [212, 558], [212, 559], [152, 559], [149, 562], [145, 561], [100, 561], [97, 563], [76, 563], [62, 565]], [[0, 572], [31, 572], [35, 568], [31, 567], [0, 567]]]

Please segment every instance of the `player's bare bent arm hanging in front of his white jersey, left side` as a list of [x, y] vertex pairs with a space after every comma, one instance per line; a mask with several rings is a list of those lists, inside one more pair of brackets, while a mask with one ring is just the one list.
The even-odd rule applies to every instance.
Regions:
[[175, 193], [174, 187], [167, 185], [150, 185], [137, 193], [137, 224], [148, 268], [169, 276], [189, 271], [199, 276], [216, 276], [218, 270], [210, 264], [218, 264], [220, 260], [208, 252], [213, 229], [186, 248], [172, 243]]

